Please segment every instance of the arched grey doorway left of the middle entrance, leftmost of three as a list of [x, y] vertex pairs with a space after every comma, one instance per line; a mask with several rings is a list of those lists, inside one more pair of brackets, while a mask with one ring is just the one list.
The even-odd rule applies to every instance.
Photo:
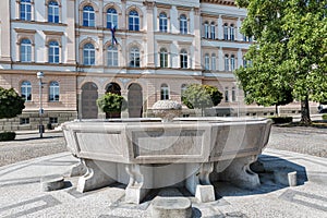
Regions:
[[97, 119], [98, 107], [96, 100], [98, 98], [98, 87], [95, 83], [88, 82], [82, 86], [82, 118]]

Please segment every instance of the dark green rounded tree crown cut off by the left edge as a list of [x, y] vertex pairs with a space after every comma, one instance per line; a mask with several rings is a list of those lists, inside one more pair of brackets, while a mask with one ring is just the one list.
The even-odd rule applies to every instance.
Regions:
[[14, 118], [22, 113], [25, 100], [13, 88], [0, 87], [0, 119]]

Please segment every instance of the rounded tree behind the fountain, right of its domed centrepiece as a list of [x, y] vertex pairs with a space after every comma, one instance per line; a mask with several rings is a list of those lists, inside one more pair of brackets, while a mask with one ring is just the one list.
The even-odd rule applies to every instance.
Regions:
[[204, 108], [217, 106], [221, 99], [222, 94], [210, 85], [191, 84], [182, 93], [183, 104], [190, 109], [202, 109], [202, 116]]

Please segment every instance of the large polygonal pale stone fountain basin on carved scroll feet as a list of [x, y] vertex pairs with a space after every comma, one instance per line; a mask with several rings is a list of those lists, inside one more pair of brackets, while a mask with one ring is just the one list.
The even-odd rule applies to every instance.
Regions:
[[268, 143], [270, 120], [172, 119], [170, 113], [159, 113], [170, 122], [113, 119], [64, 123], [68, 147], [87, 169], [78, 179], [77, 191], [120, 182], [128, 184], [125, 202], [140, 204], [152, 189], [185, 186], [199, 202], [211, 202], [214, 181], [246, 189], [261, 184], [250, 165]]

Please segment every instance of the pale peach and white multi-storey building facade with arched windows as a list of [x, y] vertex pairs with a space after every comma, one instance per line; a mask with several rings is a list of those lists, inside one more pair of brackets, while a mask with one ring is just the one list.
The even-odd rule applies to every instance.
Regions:
[[22, 116], [0, 122], [2, 130], [36, 129], [37, 72], [45, 74], [44, 117], [52, 124], [104, 118], [96, 99], [107, 92], [128, 100], [122, 117], [148, 117], [160, 99], [181, 101], [191, 83], [217, 86], [223, 94], [218, 108], [240, 108], [243, 101], [233, 71], [247, 64], [251, 38], [240, 33], [246, 11], [233, 0], [3, 0], [0, 5], [0, 86], [14, 87], [26, 101]]

